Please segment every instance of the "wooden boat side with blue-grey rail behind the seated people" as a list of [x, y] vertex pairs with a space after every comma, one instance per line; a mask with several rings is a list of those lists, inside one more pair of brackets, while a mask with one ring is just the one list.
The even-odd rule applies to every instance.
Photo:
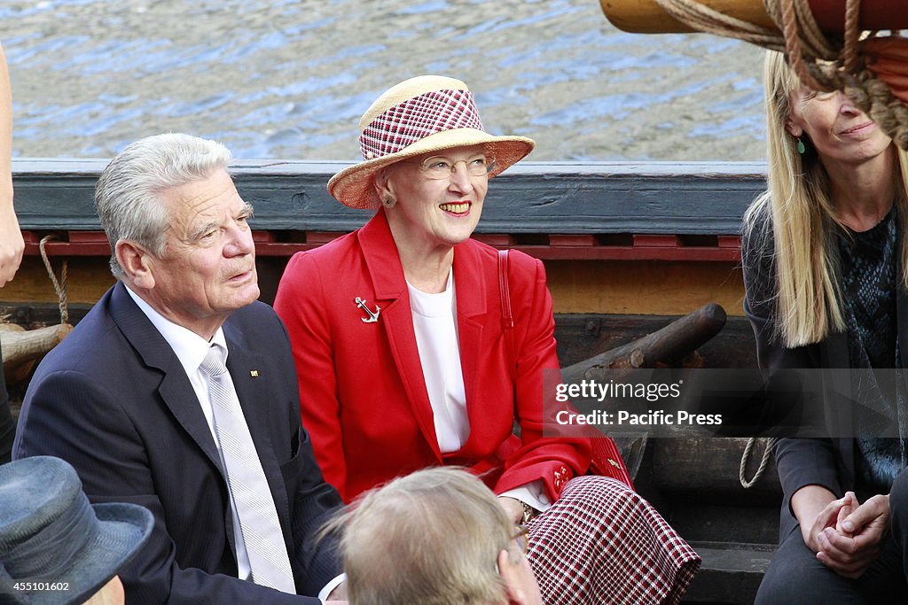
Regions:
[[[14, 160], [26, 256], [15, 280], [0, 290], [0, 313], [29, 326], [59, 321], [57, 297], [38, 256], [38, 241], [47, 233], [57, 236], [47, 246], [54, 267], [68, 263], [74, 322], [114, 283], [107, 267], [110, 247], [92, 200], [104, 163]], [[273, 298], [294, 252], [369, 218], [369, 212], [331, 200], [325, 190], [331, 174], [344, 166], [262, 161], [234, 167], [237, 189], [256, 209], [252, 229], [262, 300]], [[741, 307], [738, 232], [744, 210], [765, 189], [764, 170], [756, 163], [527, 162], [496, 178], [476, 237], [544, 261], [563, 366], [717, 302], [729, 317], [716, 337], [698, 347], [704, 366], [754, 367], [753, 333]], [[24, 388], [16, 385], [14, 399]], [[734, 439], [652, 439], [637, 458], [639, 492], [704, 556], [688, 601], [753, 602], [771, 554], [777, 480], [767, 473], [756, 490], [745, 492], [736, 483], [735, 456], [742, 449]], [[741, 514], [749, 520], [746, 535], [740, 533]], [[742, 550], [745, 542], [759, 547]]]

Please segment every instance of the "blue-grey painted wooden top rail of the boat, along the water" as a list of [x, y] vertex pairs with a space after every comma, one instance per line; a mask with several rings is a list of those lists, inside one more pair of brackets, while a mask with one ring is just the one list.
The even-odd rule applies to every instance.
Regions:
[[[92, 195], [105, 164], [14, 160], [22, 228], [99, 229]], [[342, 206], [325, 189], [346, 165], [238, 161], [232, 171], [255, 206], [255, 229], [349, 231], [370, 212]], [[764, 165], [750, 162], [526, 162], [492, 182], [478, 231], [734, 235], [764, 187]]]

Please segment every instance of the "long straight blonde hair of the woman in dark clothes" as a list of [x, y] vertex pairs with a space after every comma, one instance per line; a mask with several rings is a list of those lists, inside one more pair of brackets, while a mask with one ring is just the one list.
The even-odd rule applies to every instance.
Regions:
[[[769, 51], [764, 63], [768, 190], [745, 212], [745, 231], [757, 233], [761, 217], [772, 220], [775, 239], [776, 327], [785, 346], [820, 342], [844, 330], [838, 287], [838, 255], [829, 177], [813, 150], [804, 155], [785, 131], [791, 98], [801, 85], [785, 56]], [[897, 195], [901, 237], [901, 285], [908, 286], [908, 154], [897, 150], [902, 187]]]

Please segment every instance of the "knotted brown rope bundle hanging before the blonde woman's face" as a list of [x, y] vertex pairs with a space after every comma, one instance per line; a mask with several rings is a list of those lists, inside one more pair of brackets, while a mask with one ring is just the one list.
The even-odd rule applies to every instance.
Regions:
[[[896, 145], [908, 150], [908, 108], [867, 67], [866, 45], [881, 38], [861, 39], [861, 0], [846, 0], [844, 37], [834, 41], [820, 30], [807, 0], [763, 1], [778, 31], [723, 15], [697, 0], [656, 0], [656, 4], [697, 31], [784, 52], [805, 86], [815, 91], [843, 91]], [[883, 39], [904, 40], [898, 35]]]

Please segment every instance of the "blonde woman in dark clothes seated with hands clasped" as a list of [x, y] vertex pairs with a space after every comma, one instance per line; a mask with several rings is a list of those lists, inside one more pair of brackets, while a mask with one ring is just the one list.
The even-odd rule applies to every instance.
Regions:
[[[760, 366], [902, 367], [904, 151], [844, 94], [804, 87], [781, 54], [766, 57], [765, 102], [769, 189], [745, 215], [742, 252]], [[824, 391], [834, 421], [854, 433], [776, 446], [780, 546], [757, 602], [903, 599], [905, 389], [884, 380], [861, 388], [892, 422]], [[897, 438], [882, 438], [887, 428]]]

